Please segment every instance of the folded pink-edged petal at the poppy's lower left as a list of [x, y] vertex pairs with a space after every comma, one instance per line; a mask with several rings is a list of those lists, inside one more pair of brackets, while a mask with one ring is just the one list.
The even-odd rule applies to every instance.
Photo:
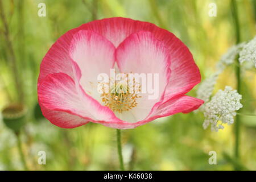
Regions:
[[88, 96], [65, 73], [48, 75], [39, 86], [38, 100], [40, 106], [48, 110], [64, 111], [86, 121], [120, 121], [113, 111]]

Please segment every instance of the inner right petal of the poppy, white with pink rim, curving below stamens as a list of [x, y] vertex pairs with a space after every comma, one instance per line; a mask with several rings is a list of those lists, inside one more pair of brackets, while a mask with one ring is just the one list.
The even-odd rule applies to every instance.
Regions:
[[[151, 32], [137, 32], [125, 39], [116, 50], [116, 60], [122, 73], [137, 73], [144, 76], [141, 81], [138, 105], [129, 111], [137, 122], [146, 118], [152, 107], [161, 100], [170, 76], [170, 55], [162, 42], [155, 39]], [[151, 76], [151, 77], [150, 77]], [[150, 85], [151, 84], [151, 85]], [[154, 86], [154, 93], [148, 92], [148, 86]], [[146, 92], [143, 92], [146, 91]], [[151, 98], [150, 98], [151, 96]]]

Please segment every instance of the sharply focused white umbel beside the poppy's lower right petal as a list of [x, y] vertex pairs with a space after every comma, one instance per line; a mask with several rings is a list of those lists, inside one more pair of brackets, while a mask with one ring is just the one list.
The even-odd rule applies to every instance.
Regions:
[[237, 90], [233, 90], [230, 86], [226, 86], [225, 90], [218, 90], [212, 100], [205, 104], [204, 129], [210, 125], [212, 131], [218, 131], [224, 129], [224, 123], [233, 124], [236, 111], [242, 107], [241, 99], [242, 96]]

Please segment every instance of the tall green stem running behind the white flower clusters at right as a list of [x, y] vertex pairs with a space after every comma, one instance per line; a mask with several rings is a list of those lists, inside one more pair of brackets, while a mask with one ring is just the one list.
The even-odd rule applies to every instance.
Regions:
[[[239, 25], [239, 18], [238, 18], [238, 9], [237, 9], [237, 2], [236, 0], [231, 1], [231, 8], [233, 12], [233, 17], [234, 17], [234, 25], [236, 28], [236, 43], [240, 43], [240, 25]], [[241, 70], [240, 70], [240, 63], [239, 63], [239, 55], [237, 56], [236, 59], [236, 77], [237, 77], [237, 92], [241, 94]], [[235, 122], [235, 146], [234, 146], [234, 156], [237, 160], [240, 158], [240, 115], [236, 115], [236, 122]]]

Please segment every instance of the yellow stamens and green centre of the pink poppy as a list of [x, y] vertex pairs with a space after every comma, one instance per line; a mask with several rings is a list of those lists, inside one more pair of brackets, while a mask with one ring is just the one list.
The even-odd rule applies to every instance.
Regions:
[[104, 105], [118, 113], [133, 109], [138, 104], [138, 98], [141, 98], [138, 96], [138, 93], [141, 92], [141, 85], [135, 79], [129, 81], [127, 74], [121, 80], [110, 79], [109, 83], [101, 83], [101, 91]]

